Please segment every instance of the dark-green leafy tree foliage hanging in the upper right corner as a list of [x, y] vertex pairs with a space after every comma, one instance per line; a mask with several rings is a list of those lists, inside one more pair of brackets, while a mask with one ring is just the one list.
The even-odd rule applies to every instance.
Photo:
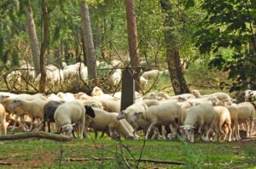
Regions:
[[256, 89], [255, 1], [206, 0], [201, 8], [207, 13], [195, 33], [201, 53], [212, 53], [210, 64], [228, 71], [229, 78], [236, 81], [230, 92]]

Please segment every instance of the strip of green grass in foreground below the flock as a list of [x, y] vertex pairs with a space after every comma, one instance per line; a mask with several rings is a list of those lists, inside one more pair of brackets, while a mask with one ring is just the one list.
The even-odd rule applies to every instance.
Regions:
[[[132, 155], [139, 158], [143, 140], [123, 140]], [[12, 163], [11, 167], [42, 168], [125, 168], [125, 163], [115, 152], [120, 153], [119, 142], [102, 139], [74, 139], [63, 143], [44, 139], [2, 141], [0, 161]], [[124, 156], [131, 155], [123, 149]], [[186, 166], [170, 166], [141, 162], [139, 168], [253, 168], [256, 167], [256, 143], [195, 143], [179, 141], [148, 140], [143, 149], [143, 158], [164, 161], [182, 161]], [[111, 161], [63, 161], [67, 158], [114, 157]], [[61, 161], [61, 165], [60, 165]], [[131, 161], [130, 161], [131, 162]], [[3, 166], [0, 166], [1, 168]], [[9, 166], [4, 166], [8, 168]]]

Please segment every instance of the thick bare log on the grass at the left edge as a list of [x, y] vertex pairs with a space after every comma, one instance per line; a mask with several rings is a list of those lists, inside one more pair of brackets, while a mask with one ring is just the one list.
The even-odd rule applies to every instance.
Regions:
[[25, 132], [25, 133], [0, 136], [0, 140], [15, 140], [15, 139], [24, 139], [24, 138], [45, 138], [49, 140], [63, 141], [63, 142], [72, 140], [71, 137], [63, 136], [59, 134], [53, 134], [49, 132]]

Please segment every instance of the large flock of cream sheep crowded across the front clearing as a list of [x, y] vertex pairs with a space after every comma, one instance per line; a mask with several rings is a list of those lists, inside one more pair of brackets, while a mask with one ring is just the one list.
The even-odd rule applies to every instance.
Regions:
[[[121, 93], [106, 94], [94, 87], [91, 96], [86, 93], [0, 93], [0, 122], [2, 134], [7, 127], [18, 126], [24, 131], [45, 128], [48, 123], [55, 132], [68, 136], [88, 138], [88, 130], [101, 131], [111, 138], [172, 139], [180, 135], [190, 142], [197, 140], [239, 140], [239, 129], [253, 134], [255, 110], [249, 101], [256, 91], [245, 91], [245, 101], [235, 104], [227, 93], [201, 95], [198, 90], [169, 96], [149, 93], [147, 98], [136, 93], [135, 104], [120, 110]], [[28, 122], [29, 121], [29, 122]], [[54, 123], [53, 123], [54, 122]], [[43, 123], [43, 125], [41, 125]]]

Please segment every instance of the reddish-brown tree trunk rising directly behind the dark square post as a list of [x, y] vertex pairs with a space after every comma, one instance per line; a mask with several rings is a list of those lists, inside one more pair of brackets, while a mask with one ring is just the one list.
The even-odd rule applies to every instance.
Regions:
[[140, 65], [139, 50], [137, 44], [137, 22], [136, 22], [136, 12], [133, 0], [125, 0], [125, 10], [126, 10], [126, 20], [127, 20], [127, 32], [128, 32], [128, 43], [129, 43], [129, 53], [131, 59], [131, 67], [135, 69], [134, 78], [137, 83], [135, 89], [138, 91], [138, 84], [140, 82], [139, 69], [137, 67]]

